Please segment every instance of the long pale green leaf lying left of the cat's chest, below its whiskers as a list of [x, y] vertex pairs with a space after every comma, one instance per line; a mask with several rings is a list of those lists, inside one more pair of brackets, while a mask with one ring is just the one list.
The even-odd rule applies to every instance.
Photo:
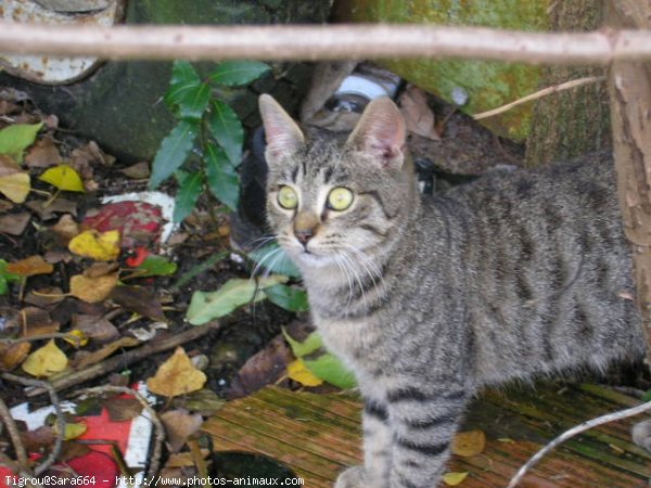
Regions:
[[255, 280], [233, 278], [216, 292], [194, 292], [186, 319], [192, 325], [202, 325], [213, 319], [224, 317], [235, 308], [248, 303], [265, 299], [264, 290], [275, 284], [284, 283], [286, 277], [272, 274]]

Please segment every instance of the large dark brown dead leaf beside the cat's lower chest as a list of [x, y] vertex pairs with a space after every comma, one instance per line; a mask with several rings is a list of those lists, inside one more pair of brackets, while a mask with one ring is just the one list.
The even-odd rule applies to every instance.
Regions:
[[231, 382], [228, 398], [242, 398], [276, 383], [286, 371], [293, 355], [284, 337], [277, 335], [267, 347], [252, 356]]

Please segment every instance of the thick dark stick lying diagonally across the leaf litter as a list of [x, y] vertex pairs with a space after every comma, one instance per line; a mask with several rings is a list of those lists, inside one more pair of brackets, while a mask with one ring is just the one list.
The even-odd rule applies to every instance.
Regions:
[[[164, 341], [155, 343], [150, 342], [149, 344], [145, 344], [144, 346], [139, 347], [138, 349], [129, 350], [123, 355], [85, 368], [81, 371], [75, 371], [74, 373], [66, 374], [65, 376], [60, 376], [56, 380], [52, 381], [51, 386], [53, 389], [56, 390], [69, 388], [71, 386], [78, 385], [79, 383], [84, 383], [94, 377], [102, 376], [118, 368], [126, 368], [133, 362], [146, 358], [148, 356], [163, 352], [190, 341], [195, 341], [218, 328], [219, 322], [214, 321], [206, 323], [205, 325], [194, 326], [192, 329], [187, 330], [186, 332], [167, 337]], [[43, 393], [46, 393], [43, 388], [37, 388], [31, 391], [27, 391], [27, 396], [35, 397], [37, 395], [42, 395]]]

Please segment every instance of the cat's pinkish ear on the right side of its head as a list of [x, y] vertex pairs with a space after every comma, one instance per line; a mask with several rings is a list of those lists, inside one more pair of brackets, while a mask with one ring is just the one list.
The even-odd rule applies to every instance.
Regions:
[[371, 154], [385, 168], [399, 169], [406, 140], [403, 114], [388, 97], [381, 97], [367, 105], [346, 144]]

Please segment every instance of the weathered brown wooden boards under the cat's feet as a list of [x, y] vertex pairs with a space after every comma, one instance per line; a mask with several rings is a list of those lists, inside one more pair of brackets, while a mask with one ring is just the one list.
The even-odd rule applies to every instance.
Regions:
[[[638, 403], [587, 384], [488, 390], [473, 402], [463, 427], [484, 431], [486, 449], [472, 458], [454, 457], [449, 471], [469, 473], [461, 488], [503, 488], [526, 460], [563, 431]], [[360, 412], [361, 403], [352, 396], [268, 387], [229, 402], [203, 428], [218, 451], [269, 455], [304, 478], [304, 486], [327, 488], [341, 470], [361, 460]], [[651, 454], [631, 444], [629, 435], [638, 420], [607, 424], [566, 441], [521, 487], [648, 487]]]

